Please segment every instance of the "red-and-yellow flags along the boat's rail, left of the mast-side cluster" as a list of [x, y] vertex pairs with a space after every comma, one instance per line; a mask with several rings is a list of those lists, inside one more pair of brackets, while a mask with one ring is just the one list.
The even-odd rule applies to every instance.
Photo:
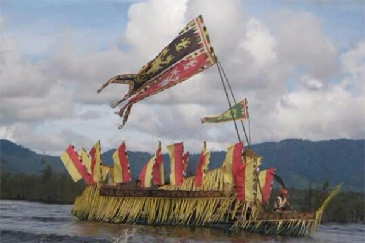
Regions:
[[[182, 185], [184, 176], [186, 175], [189, 152], [184, 154], [183, 142], [168, 145], [166, 148], [170, 155], [172, 168], [170, 173], [170, 183], [178, 186]], [[205, 142], [203, 148], [204, 150], [202, 150], [201, 157], [206, 157]], [[80, 155], [77, 153], [74, 146], [70, 144], [60, 158], [75, 182], [84, 179], [86, 184], [91, 185], [105, 181], [107, 176], [109, 176], [108, 184], [112, 185], [128, 183], [132, 180], [130, 164], [124, 141], [112, 155], [114, 162], [112, 167], [104, 165], [101, 161], [100, 141], [97, 141], [89, 152], [86, 152], [84, 148], [81, 148]], [[199, 163], [196, 171], [196, 187], [201, 186], [203, 176], [208, 168], [208, 163], [209, 159], [204, 160], [203, 163]], [[165, 183], [161, 142], [158, 142], [156, 153], [142, 167], [138, 180], [141, 181], [141, 187], [150, 187], [152, 184], [163, 185]]]

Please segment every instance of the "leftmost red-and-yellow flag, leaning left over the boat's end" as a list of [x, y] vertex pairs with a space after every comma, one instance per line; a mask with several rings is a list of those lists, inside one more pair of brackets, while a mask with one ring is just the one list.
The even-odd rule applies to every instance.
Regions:
[[70, 144], [60, 158], [74, 182], [82, 178], [86, 184], [93, 184], [90, 174], [81, 163], [80, 157], [73, 145]]

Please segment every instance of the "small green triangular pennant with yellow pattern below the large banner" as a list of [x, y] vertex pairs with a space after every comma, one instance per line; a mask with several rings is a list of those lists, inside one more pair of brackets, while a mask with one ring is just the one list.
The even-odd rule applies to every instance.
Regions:
[[[233, 114], [233, 116], [232, 116]], [[235, 120], [248, 119], [249, 113], [247, 111], [247, 99], [236, 103], [231, 109], [223, 112], [221, 115], [212, 115], [201, 119], [201, 123], [220, 123]]]

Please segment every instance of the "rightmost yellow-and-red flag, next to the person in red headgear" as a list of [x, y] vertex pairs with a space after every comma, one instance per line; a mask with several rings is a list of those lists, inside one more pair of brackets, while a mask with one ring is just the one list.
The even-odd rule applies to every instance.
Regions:
[[260, 203], [268, 203], [269, 201], [274, 174], [275, 168], [269, 168], [266, 171], [260, 171], [258, 174], [258, 181], [260, 182], [262, 190], [261, 194], [260, 187], [257, 187], [257, 199], [260, 201]]

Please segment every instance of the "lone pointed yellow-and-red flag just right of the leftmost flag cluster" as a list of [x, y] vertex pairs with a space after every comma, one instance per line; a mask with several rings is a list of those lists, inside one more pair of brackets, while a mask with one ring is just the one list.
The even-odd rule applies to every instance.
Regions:
[[123, 143], [115, 150], [112, 155], [114, 161], [115, 183], [126, 183], [132, 180], [129, 167], [126, 144]]

